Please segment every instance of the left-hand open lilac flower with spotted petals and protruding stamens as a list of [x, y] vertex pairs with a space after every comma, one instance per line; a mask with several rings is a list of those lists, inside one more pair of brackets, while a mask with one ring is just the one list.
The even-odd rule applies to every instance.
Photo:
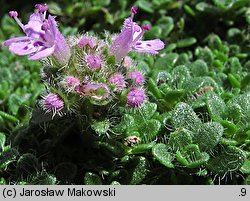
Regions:
[[30, 16], [29, 22], [23, 25], [17, 18], [16, 11], [10, 11], [26, 36], [11, 38], [3, 43], [17, 55], [29, 55], [30, 60], [39, 60], [53, 55], [58, 62], [65, 65], [70, 57], [69, 46], [57, 28], [51, 15], [46, 19], [47, 5], [36, 5], [37, 11]]

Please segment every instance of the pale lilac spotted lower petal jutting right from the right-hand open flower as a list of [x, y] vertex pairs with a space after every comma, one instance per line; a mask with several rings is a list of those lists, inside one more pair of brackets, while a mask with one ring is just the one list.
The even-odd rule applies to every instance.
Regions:
[[132, 47], [136, 52], [147, 52], [151, 54], [157, 54], [158, 50], [163, 49], [165, 44], [160, 39], [138, 41]]

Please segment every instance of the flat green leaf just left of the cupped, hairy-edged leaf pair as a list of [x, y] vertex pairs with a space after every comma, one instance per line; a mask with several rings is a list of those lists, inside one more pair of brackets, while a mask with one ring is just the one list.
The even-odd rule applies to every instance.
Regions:
[[152, 149], [152, 154], [162, 165], [168, 168], [174, 168], [172, 163], [174, 156], [169, 152], [169, 147], [165, 144], [156, 144]]

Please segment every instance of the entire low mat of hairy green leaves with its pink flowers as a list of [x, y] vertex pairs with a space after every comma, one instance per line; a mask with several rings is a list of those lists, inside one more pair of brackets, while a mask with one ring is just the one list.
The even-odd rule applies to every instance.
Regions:
[[249, 184], [249, 1], [46, 3], [1, 21], [2, 184]]

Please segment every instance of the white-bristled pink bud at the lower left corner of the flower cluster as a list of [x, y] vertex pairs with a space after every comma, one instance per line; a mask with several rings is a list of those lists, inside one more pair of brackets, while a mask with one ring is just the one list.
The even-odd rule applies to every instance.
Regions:
[[56, 114], [62, 115], [60, 111], [64, 107], [64, 102], [57, 94], [49, 93], [42, 97], [40, 105], [46, 113], [52, 112], [54, 117]]

